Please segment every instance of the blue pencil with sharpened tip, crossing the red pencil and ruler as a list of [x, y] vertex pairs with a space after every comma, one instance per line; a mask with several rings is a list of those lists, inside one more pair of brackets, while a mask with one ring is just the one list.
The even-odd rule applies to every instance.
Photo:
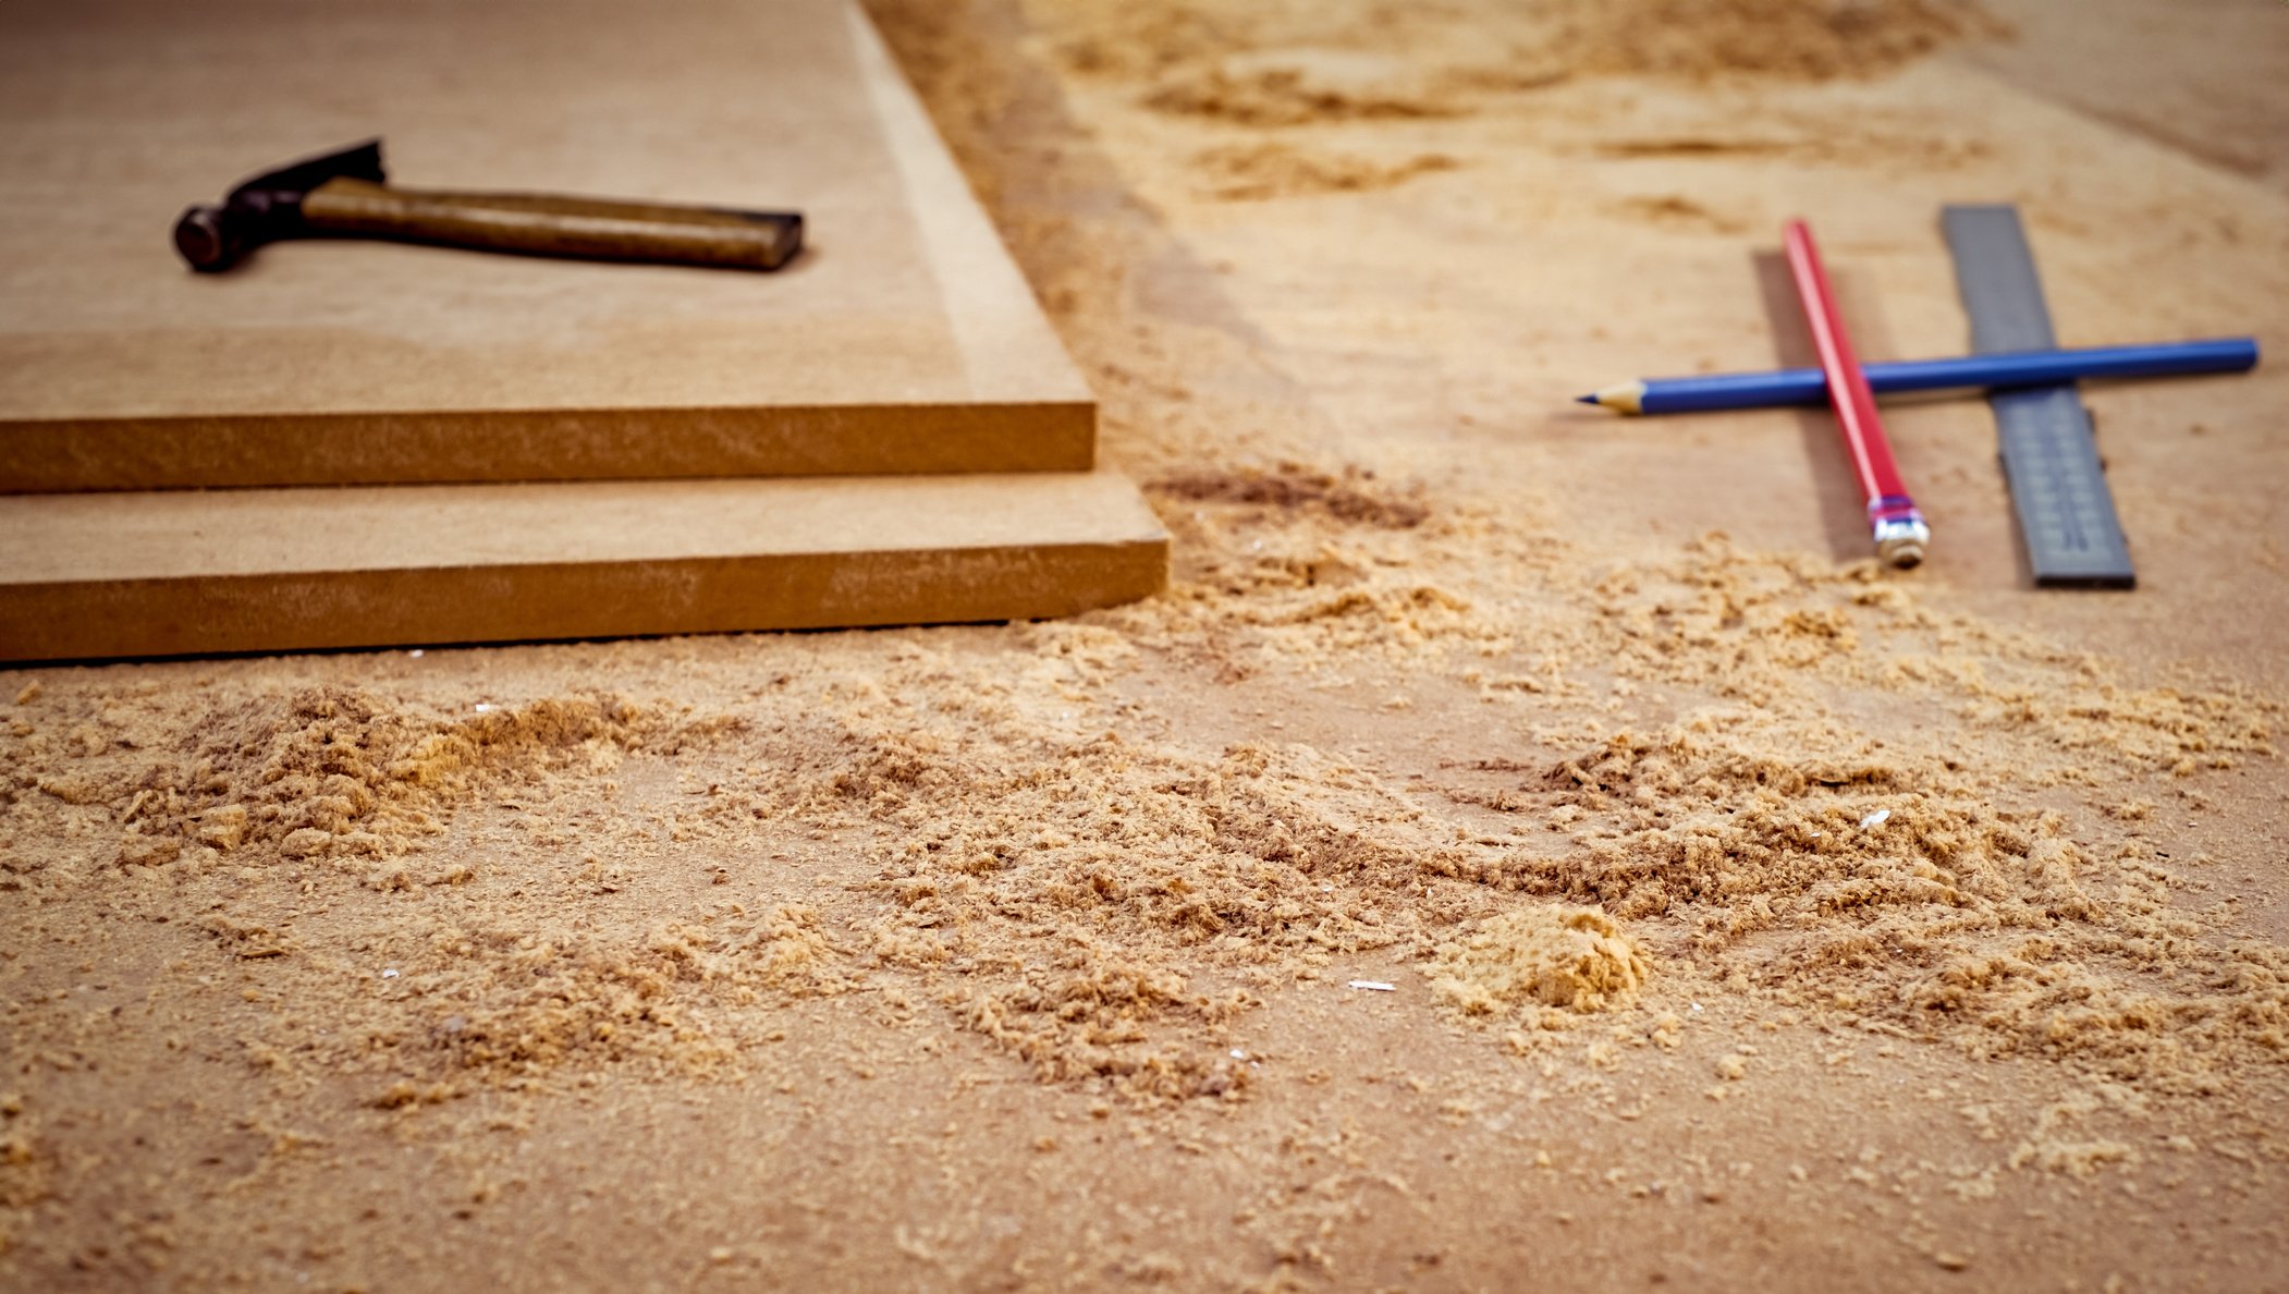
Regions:
[[[1895, 392], [1941, 392], [1950, 387], [2044, 387], [2083, 378], [2177, 378], [2188, 373], [2243, 373], [2257, 366], [2257, 339], [2165, 341], [2161, 346], [2092, 346], [2083, 350], [2026, 350], [2019, 355], [1966, 355], [1962, 360], [1904, 360], [1866, 364], [1868, 387]], [[1582, 396], [1586, 405], [1616, 412], [1705, 412], [1774, 405], [1817, 405], [1829, 399], [1820, 369], [1779, 373], [1714, 373], [1708, 378], [1650, 378]]]

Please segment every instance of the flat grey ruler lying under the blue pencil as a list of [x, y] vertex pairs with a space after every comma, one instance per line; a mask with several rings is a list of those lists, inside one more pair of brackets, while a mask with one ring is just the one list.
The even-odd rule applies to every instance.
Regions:
[[[1955, 254], [1955, 284], [1971, 314], [1971, 348], [2051, 350], [2035, 254], [2014, 206], [1946, 206], [1939, 222]], [[2074, 385], [1989, 392], [2010, 502], [2028, 566], [2044, 589], [2133, 589], [2138, 573], [2106, 488], [2090, 410]]]

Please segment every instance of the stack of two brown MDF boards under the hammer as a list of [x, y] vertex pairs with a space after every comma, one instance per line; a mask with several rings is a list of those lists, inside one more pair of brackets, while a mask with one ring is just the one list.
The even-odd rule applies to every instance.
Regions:
[[[774, 275], [307, 240], [391, 179], [799, 208]], [[0, 660], [984, 621], [1161, 586], [1094, 401], [842, 0], [96, 0], [0, 44]]]

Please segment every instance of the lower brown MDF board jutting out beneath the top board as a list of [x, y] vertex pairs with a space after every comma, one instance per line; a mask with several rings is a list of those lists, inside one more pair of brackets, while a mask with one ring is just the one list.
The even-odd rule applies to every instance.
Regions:
[[1156, 593], [1124, 476], [0, 497], [0, 660], [1069, 616]]

